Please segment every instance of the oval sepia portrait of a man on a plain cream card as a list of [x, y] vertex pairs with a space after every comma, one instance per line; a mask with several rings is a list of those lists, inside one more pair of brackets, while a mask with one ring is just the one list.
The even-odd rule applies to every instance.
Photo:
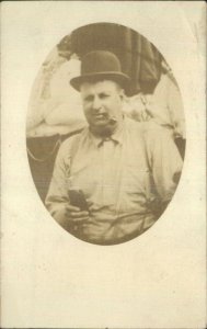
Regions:
[[159, 49], [114, 23], [80, 26], [43, 63], [27, 113], [32, 177], [50, 215], [87, 242], [143, 234], [185, 154], [180, 88]]

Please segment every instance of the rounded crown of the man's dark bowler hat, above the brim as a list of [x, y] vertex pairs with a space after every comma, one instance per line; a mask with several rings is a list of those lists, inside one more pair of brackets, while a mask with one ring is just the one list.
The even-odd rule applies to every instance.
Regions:
[[95, 50], [82, 58], [81, 75], [122, 72], [118, 58], [110, 52]]

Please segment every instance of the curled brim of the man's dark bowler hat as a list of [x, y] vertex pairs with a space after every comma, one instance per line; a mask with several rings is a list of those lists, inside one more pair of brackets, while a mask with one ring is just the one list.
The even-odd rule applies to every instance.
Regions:
[[130, 78], [122, 72], [97, 72], [91, 75], [83, 75], [70, 80], [70, 84], [78, 91], [83, 82], [96, 82], [100, 80], [112, 80], [120, 84], [122, 88], [127, 90], [127, 87], [130, 82]]

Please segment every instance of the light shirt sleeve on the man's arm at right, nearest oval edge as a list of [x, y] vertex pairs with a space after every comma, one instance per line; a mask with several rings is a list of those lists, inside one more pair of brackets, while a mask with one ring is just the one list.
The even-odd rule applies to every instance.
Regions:
[[170, 132], [156, 124], [149, 129], [147, 150], [156, 190], [161, 201], [168, 203], [179, 183], [182, 158]]

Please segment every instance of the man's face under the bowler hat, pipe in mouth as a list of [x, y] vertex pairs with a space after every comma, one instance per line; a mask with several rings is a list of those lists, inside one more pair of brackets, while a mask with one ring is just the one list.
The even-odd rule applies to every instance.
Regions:
[[124, 91], [116, 82], [84, 82], [80, 91], [84, 115], [92, 128], [107, 128], [122, 121]]

